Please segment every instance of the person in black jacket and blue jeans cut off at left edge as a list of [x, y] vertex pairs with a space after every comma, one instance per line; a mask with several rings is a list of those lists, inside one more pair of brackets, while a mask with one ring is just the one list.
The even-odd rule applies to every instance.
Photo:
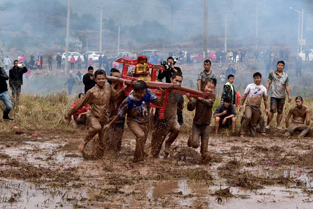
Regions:
[[0, 67], [0, 100], [2, 100], [5, 105], [5, 109], [3, 111], [3, 119], [13, 120], [13, 118], [9, 116], [9, 113], [12, 110], [12, 102], [8, 93], [8, 80], [9, 77], [4, 68]]

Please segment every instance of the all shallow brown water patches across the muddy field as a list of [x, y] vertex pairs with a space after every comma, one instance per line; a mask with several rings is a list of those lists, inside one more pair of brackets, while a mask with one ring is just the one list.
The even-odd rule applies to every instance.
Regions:
[[[226, 188], [226, 180], [220, 179], [216, 169], [235, 157], [224, 156], [222, 163], [213, 163], [209, 169], [214, 175], [214, 184], [204, 185], [191, 180], [178, 181], [138, 181], [133, 185], [123, 185], [117, 188], [104, 182], [105, 172], [100, 172], [101, 165], [96, 161], [83, 161], [81, 154], [69, 153], [59, 148], [64, 146], [63, 140], [49, 142], [25, 142], [23, 145], [11, 146], [0, 150], [11, 158], [21, 162], [32, 163], [35, 166], [49, 168], [87, 167], [95, 166], [88, 178], [80, 182], [68, 182], [66, 185], [39, 184], [20, 180], [8, 180], [0, 177], [0, 207], [4, 208], [313, 208], [312, 195], [302, 191], [303, 186], [264, 186], [264, 189], [250, 191], [242, 187], [231, 187], [233, 197], [214, 196], [218, 189]], [[228, 148], [218, 149], [220, 152]], [[238, 160], [240, 157], [238, 156]], [[0, 169], [7, 169], [2, 159]], [[245, 163], [253, 159], [244, 159]], [[98, 163], [98, 165], [97, 165]], [[102, 164], [102, 163], [101, 163]], [[178, 162], [184, 169], [189, 165]], [[98, 167], [97, 167], [98, 166]], [[125, 165], [124, 165], [125, 166]], [[100, 167], [100, 168], [99, 168]], [[194, 165], [193, 168], [199, 168]], [[203, 166], [201, 166], [202, 168]], [[18, 168], [16, 168], [18, 169]], [[123, 170], [125, 168], [121, 168]], [[136, 168], [135, 168], [136, 170]], [[290, 167], [288, 169], [276, 165], [275, 162], [259, 167], [241, 168], [254, 175], [299, 180], [312, 190], [313, 178], [310, 170]], [[123, 171], [122, 171], [123, 172]], [[84, 186], [75, 187], [73, 184]], [[105, 193], [106, 191], [106, 193]], [[108, 192], [109, 191], [109, 192]], [[112, 192], [115, 191], [115, 192]]]

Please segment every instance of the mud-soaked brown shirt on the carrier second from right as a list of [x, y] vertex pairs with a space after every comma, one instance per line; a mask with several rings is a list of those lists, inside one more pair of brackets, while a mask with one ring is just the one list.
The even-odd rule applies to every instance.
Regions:
[[[169, 94], [165, 107], [164, 118], [162, 120], [166, 121], [170, 119], [175, 119], [177, 115], [177, 109], [182, 111], [183, 108], [184, 108], [184, 97], [181, 94], [173, 93]], [[154, 118], [159, 117], [160, 110], [161, 109], [156, 108]]]

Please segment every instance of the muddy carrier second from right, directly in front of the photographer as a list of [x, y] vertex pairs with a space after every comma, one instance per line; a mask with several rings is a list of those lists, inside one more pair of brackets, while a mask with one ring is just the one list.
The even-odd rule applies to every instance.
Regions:
[[[174, 72], [171, 77], [171, 83], [182, 84], [182, 74]], [[173, 93], [168, 95], [163, 119], [159, 119], [160, 109], [156, 108], [151, 139], [151, 154], [154, 158], [158, 157], [168, 133], [170, 133], [170, 135], [165, 142], [164, 157], [167, 157], [170, 153], [171, 144], [175, 141], [180, 131], [179, 123], [176, 120], [177, 110], [182, 111], [183, 108], [184, 97], [180, 94]]]

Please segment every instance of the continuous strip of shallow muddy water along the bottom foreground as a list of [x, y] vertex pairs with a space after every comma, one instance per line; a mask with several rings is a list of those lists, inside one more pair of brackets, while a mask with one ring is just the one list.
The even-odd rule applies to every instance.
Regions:
[[[219, 187], [199, 186], [188, 181], [143, 183], [139, 187], [125, 186], [121, 195], [107, 196], [105, 201], [93, 201], [98, 191], [85, 188], [56, 188], [18, 180], [1, 181], [1, 207], [5, 208], [312, 208], [312, 198], [296, 188], [279, 186], [249, 191], [233, 187], [235, 197], [211, 196]], [[133, 194], [130, 194], [132, 192]]]

